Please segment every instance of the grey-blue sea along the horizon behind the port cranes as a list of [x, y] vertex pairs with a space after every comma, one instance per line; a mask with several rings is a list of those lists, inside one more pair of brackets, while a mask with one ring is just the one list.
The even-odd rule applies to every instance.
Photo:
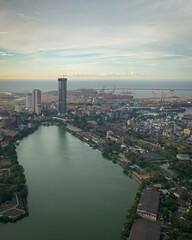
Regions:
[[[67, 81], [68, 90], [79, 88], [106, 89], [115, 93], [129, 91], [134, 98], [151, 98], [152, 89], [156, 96], [161, 96], [161, 91], [169, 97], [169, 90], [174, 91], [176, 97], [192, 97], [192, 80], [70, 80]], [[0, 92], [18, 93], [31, 92], [32, 89], [52, 91], [58, 89], [57, 80], [0, 80]], [[110, 89], [110, 90], [107, 90]]]

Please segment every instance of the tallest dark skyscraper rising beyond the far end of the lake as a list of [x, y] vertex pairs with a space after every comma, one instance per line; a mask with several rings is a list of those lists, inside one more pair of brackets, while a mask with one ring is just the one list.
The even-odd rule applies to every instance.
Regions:
[[67, 78], [58, 78], [59, 113], [67, 112]]

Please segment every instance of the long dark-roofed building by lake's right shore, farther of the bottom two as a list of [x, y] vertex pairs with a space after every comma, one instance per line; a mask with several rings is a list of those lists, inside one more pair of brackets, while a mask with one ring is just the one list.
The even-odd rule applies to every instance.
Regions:
[[144, 189], [137, 207], [137, 214], [142, 218], [156, 221], [159, 208], [160, 193]]

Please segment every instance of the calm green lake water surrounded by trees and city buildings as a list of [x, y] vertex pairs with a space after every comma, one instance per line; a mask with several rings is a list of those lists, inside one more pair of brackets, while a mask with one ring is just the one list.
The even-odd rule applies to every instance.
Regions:
[[41, 126], [17, 147], [29, 217], [0, 224], [5, 240], [119, 240], [139, 184], [87, 143]]

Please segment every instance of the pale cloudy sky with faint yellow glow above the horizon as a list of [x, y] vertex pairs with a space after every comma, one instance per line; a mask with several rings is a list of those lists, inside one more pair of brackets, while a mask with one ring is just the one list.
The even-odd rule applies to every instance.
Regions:
[[192, 0], [0, 0], [0, 79], [192, 81]]

